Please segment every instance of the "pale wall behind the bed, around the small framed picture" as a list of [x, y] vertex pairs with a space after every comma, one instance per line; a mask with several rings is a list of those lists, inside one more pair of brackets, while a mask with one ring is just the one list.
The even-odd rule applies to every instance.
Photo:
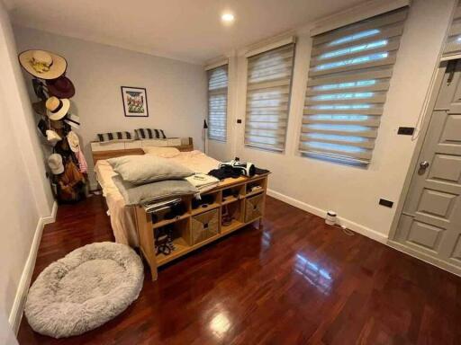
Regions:
[[[20, 51], [48, 49], [68, 60], [67, 75], [76, 87], [71, 111], [80, 116], [77, 133], [83, 138], [90, 169], [89, 143], [97, 133], [161, 128], [168, 137], [194, 137], [194, 146], [202, 148], [206, 115], [203, 66], [23, 27], [14, 27], [14, 34]], [[149, 118], [124, 116], [121, 86], [147, 89]], [[93, 174], [90, 177], [94, 182]]]

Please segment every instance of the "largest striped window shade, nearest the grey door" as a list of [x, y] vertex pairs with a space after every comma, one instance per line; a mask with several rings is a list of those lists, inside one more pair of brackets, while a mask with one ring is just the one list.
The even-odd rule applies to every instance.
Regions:
[[407, 7], [313, 37], [300, 151], [368, 164]]

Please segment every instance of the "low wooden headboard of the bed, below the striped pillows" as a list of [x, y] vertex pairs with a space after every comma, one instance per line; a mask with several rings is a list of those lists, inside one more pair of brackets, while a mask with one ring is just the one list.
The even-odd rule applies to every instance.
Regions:
[[93, 163], [96, 164], [96, 162], [99, 160], [120, 157], [122, 155], [144, 155], [142, 147], [149, 146], [176, 147], [179, 151], [194, 150], [194, 143], [192, 137], [144, 139], [107, 143], [92, 141], [91, 153], [93, 155]]

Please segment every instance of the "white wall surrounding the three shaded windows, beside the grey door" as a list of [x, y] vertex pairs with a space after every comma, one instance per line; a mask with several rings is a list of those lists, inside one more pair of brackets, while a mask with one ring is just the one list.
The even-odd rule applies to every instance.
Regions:
[[[228, 148], [235, 146], [230, 157], [238, 155], [242, 160], [270, 169], [272, 175], [268, 187], [277, 198], [322, 216], [326, 210], [333, 209], [350, 228], [384, 242], [395, 206], [384, 208], [378, 205], [378, 200], [399, 199], [416, 143], [411, 137], [397, 136], [396, 131], [399, 126], [412, 127], [417, 122], [453, 4], [454, 0], [412, 2], [375, 153], [366, 169], [306, 158], [297, 153], [311, 50], [311, 39], [306, 30], [311, 26], [309, 24], [297, 31], [299, 40], [284, 154], [243, 146], [245, 124], [235, 122], [235, 119], [245, 119], [247, 62], [243, 57], [246, 49], [241, 49], [237, 78], [230, 76], [230, 83], [236, 84], [237, 89], [235, 111], [229, 112], [230, 128], [235, 133], [227, 143]], [[212, 147], [212, 150], [219, 148]]]

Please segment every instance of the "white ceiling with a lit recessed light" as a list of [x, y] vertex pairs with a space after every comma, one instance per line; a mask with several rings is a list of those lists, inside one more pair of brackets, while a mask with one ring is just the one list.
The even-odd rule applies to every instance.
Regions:
[[[363, 0], [7, 0], [30, 28], [203, 64]], [[236, 21], [221, 24], [221, 13]]]

